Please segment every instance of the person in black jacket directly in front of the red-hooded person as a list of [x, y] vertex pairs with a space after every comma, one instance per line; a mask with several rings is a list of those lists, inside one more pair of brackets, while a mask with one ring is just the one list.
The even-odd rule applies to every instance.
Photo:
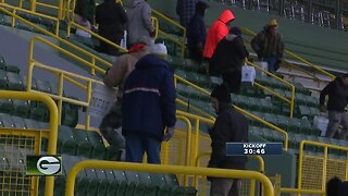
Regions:
[[239, 93], [241, 66], [248, 57], [248, 51], [240, 37], [241, 30], [234, 26], [216, 46], [209, 63], [209, 73], [212, 76], [222, 75], [223, 82], [229, 85], [232, 93]]

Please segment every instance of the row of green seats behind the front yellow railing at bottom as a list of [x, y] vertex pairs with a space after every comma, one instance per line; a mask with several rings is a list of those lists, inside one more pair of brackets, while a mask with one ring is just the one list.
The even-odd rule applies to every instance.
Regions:
[[[55, 177], [54, 195], [65, 193], [66, 175], [80, 157], [62, 156], [62, 175]], [[39, 195], [44, 195], [45, 179], [40, 177]], [[76, 196], [194, 196], [196, 188], [181, 186], [174, 174], [88, 169], [78, 173], [75, 182]]]

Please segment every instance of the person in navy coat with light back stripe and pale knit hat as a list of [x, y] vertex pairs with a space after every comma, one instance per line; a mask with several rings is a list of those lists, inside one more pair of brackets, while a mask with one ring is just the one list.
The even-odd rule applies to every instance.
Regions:
[[126, 161], [160, 164], [162, 140], [174, 134], [176, 122], [174, 72], [164, 45], [153, 45], [152, 53], [139, 59], [124, 85], [122, 134], [126, 140]]

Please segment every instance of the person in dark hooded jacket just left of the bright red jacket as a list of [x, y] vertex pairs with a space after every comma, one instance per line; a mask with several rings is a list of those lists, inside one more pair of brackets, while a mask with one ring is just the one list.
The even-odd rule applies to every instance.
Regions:
[[197, 61], [199, 64], [203, 59], [203, 47], [206, 45], [207, 37], [204, 23], [207, 8], [207, 3], [198, 1], [196, 3], [196, 13], [187, 26], [187, 47], [189, 58]]

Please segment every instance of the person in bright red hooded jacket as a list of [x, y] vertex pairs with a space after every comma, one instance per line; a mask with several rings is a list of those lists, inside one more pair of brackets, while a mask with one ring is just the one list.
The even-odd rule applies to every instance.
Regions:
[[[228, 34], [231, 23], [235, 20], [234, 14], [231, 10], [225, 10], [219, 16], [209, 28], [206, 46], [203, 50], [203, 58], [208, 61], [212, 58], [217, 42]], [[229, 26], [229, 27], [228, 27]]]

